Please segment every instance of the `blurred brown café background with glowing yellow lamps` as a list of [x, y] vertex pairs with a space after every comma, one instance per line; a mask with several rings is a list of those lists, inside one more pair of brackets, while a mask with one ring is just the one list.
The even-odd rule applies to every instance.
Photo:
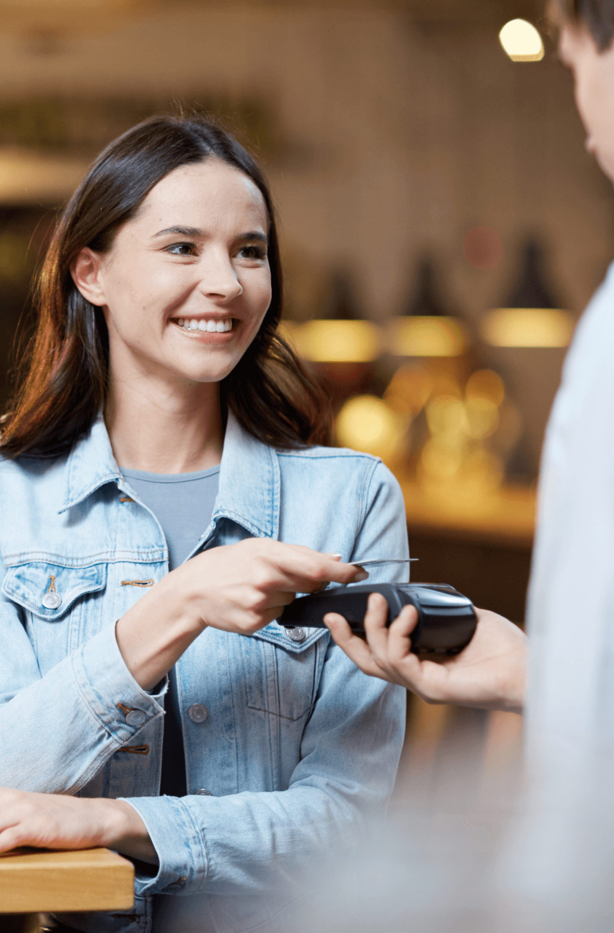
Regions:
[[[413, 578], [522, 623], [544, 427], [614, 245], [541, 3], [0, 11], [0, 406], [58, 208], [119, 132], [197, 106], [269, 176], [286, 335], [327, 385], [338, 442], [398, 476]], [[518, 749], [517, 717], [415, 700], [408, 715], [401, 797], [467, 736], [482, 771]]]

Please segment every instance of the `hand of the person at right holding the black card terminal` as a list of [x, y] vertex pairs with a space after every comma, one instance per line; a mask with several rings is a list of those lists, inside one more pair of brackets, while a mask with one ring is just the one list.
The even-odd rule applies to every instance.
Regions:
[[476, 609], [478, 626], [460, 654], [426, 661], [412, 654], [412, 631], [418, 621], [413, 606], [405, 606], [386, 628], [384, 596], [369, 597], [363, 641], [342, 616], [329, 612], [324, 621], [340, 648], [373, 677], [400, 684], [426, 703], [460, 703], [481, 709], [521, 713], [526, 675], [526, 635], [503, 616]]

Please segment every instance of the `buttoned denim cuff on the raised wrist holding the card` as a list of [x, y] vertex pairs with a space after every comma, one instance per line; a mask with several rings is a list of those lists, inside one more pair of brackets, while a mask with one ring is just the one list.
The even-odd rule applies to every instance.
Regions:
[[156, 685], [161, 689], [155, 694], [139, 687], [121, 657], [115, 623], [75, 652], [72, 673], [91, 715], [120, 745], [130, 742], [152, 719], [164, 715], [162, 697], [168, 678]]

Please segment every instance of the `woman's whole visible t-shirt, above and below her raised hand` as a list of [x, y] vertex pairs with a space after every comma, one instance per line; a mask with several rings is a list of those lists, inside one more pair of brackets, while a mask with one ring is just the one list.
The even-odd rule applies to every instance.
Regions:
[[[211, 522], [219, 466], [196, 473], [146, 473], [138, 469], [123, 469], [121, 472], [160, 522], [168, 544], [169, 570], [173, 570], [183, 564]], [[169, 671], [169, 690], [164, 707], [160, 795], [184, 797], [188, 789], [174, 668]]]

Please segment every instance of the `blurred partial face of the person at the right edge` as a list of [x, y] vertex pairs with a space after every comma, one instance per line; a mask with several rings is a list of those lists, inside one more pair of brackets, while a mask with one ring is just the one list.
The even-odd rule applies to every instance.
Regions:
[[559, 35], [559, 56], [574, 76], [586, 148], [614, 181], [614, 46], [600, 52], [587, 29], [565, 23]]

